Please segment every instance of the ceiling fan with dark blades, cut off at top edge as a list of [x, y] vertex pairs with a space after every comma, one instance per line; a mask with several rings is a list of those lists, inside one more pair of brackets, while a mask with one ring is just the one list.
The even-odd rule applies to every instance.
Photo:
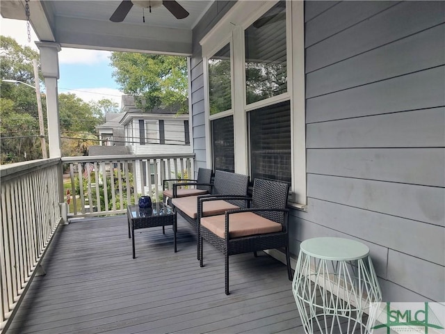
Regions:
[[150, 13], [152, 12], [152, 8], [164, 6], [168, 9], [168, 11], [170, 11], [170, 13], [175, 15], [177, 19], [184, 19], [185, 17], [188, 17], [188, 11], [175, 0], [124, 0], [120, 3], [113, 15], [111, 15], [110, 21], [122, 22], [133, 5], [142, 8], [149, 8]]

